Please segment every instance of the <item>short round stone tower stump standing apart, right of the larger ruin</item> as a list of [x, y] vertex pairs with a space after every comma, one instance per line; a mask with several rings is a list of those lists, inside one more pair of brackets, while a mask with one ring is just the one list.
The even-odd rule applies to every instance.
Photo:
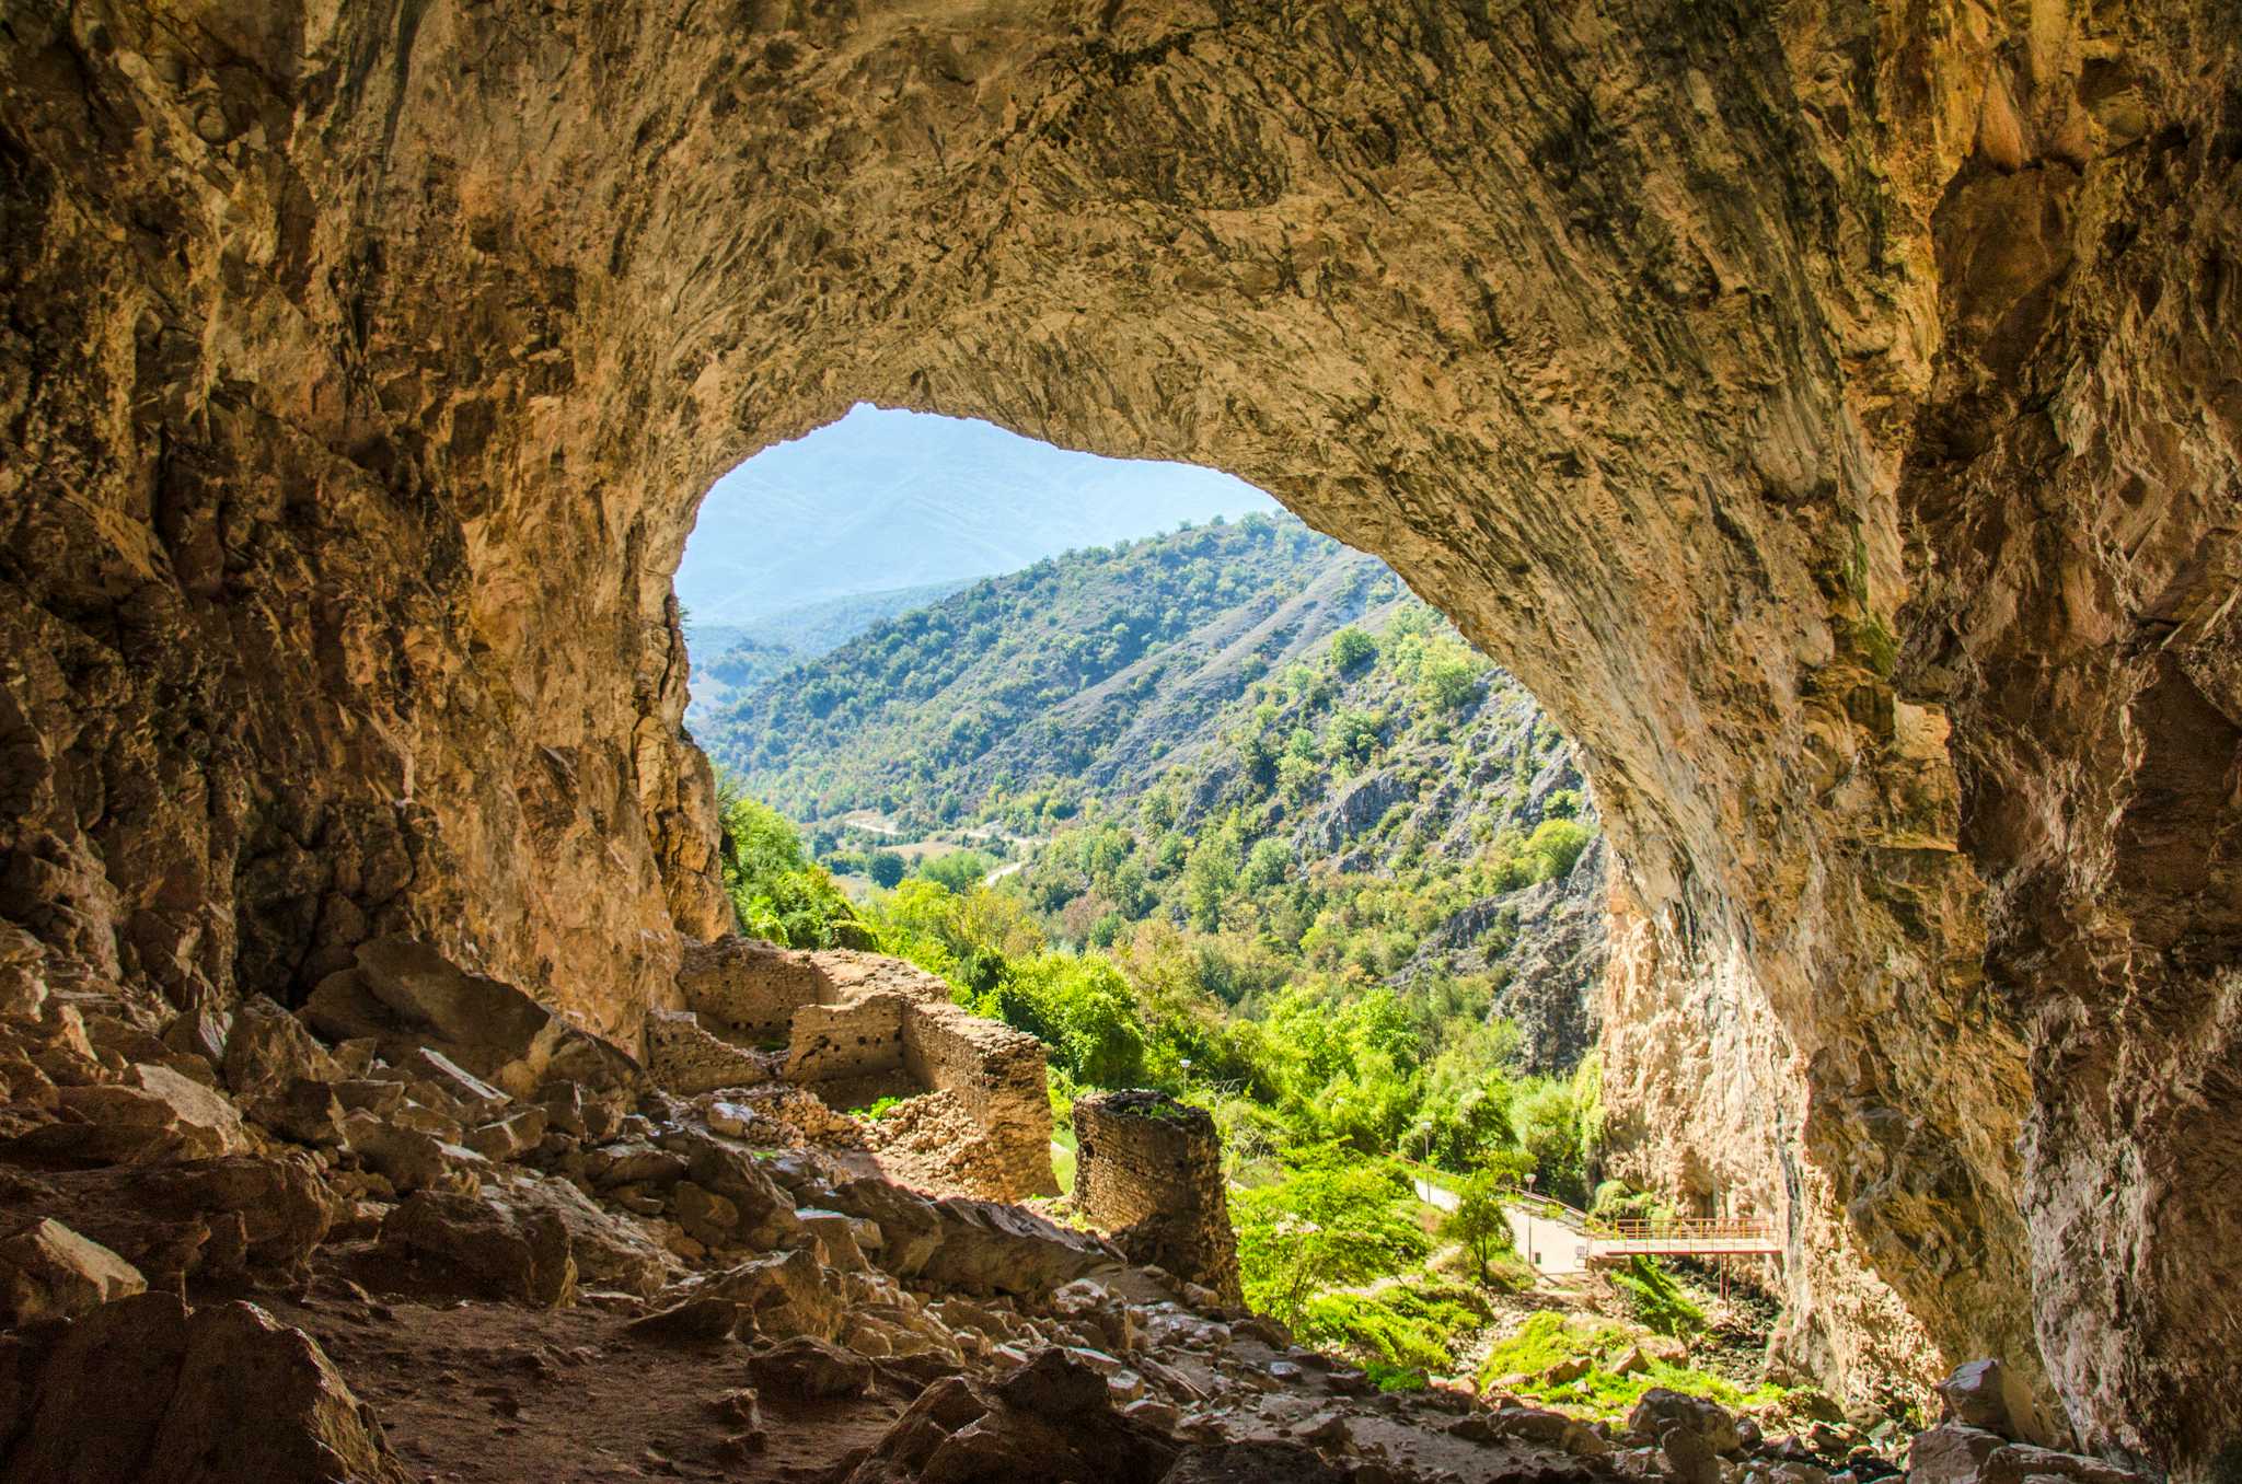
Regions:
[[1074, 1206], [1092, 1226], [1130, 1262], [1240, 1302], [1213, 1114], [1166, 1092], [1101, 1092], [1074, 1101]]

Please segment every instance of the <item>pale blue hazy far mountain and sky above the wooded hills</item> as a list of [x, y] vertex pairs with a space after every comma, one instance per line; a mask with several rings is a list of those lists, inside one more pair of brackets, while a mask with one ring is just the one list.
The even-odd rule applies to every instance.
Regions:
[[1101, 460], [984, 421], [856, 406], [715, 482], [677, 596], [704, 625], [744, 623], [1276, 509], [1211, 469]]

